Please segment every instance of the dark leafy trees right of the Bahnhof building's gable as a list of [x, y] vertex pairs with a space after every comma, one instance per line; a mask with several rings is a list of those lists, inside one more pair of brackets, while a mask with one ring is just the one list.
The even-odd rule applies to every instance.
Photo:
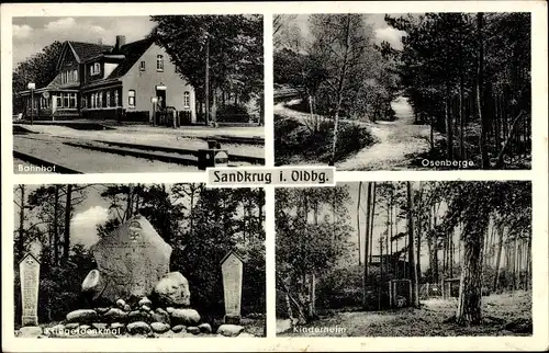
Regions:
[[235, 101], [262, 92], [261, 16], [155, 15], [152, 21], [156, 22], [152, 36], [166, 49], [178, 73], [198, 90], [198, 100], [206, 106], [213, 103], [212, 116], [219, 90], [232, 92]]

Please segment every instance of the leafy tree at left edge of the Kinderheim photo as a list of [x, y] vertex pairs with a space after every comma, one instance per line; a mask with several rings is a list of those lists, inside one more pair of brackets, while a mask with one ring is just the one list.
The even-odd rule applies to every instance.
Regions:
[[276, 201], [277, 287], [293, 308], [290, 318], [311, 321], [315, 318], [313, 278], [349, 250], [347, 208], [340, 206], [349, 201], [349, 192], [341, 186], [279, 189]]

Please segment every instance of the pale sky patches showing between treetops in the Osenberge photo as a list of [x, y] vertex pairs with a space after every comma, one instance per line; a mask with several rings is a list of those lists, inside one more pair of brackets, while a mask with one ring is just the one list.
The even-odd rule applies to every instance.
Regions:
[[[399, 16], [399, 13], [392, 13], [394, 16]], [[293, 20], [289, 21], [289, 25], [295, 24], [300, 30], [301, 34], [304, 37], [309, 36], [309, 14], [298, 14], [290, 15], [295, 16]], [[405, 32], [399, 31], [394, 27], [391, 27], [384, 20], [384, 13], [370, 13], [366, 15], [366, 23], [372, 26], [374, 42], [380, 44], [383, 41], [389, 42], [393, 48], [402, 49], [402, 36], [405, 35]]]

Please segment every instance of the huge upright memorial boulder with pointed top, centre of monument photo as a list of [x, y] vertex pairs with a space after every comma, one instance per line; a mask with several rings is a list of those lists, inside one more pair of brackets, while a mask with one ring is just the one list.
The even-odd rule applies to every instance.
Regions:
[[98, 264], [82, 289], [115, 303], [119, 298], [143, 298], [169, 272], [171, 247], [150, 223], [135, 216], [103, 237], [91, 252]]

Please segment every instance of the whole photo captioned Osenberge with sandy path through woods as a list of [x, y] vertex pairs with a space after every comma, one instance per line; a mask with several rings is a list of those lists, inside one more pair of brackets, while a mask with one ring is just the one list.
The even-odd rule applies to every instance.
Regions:
[[276, 164], [530, 169], [530, 14], [279, 14]]

